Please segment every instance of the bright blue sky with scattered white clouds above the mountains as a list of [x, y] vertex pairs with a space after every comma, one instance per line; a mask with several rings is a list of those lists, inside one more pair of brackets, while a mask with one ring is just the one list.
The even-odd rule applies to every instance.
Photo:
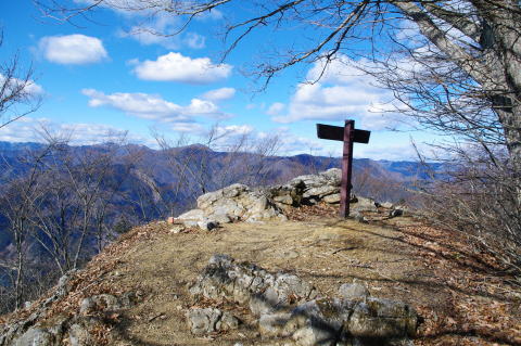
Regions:
[[[0, 128], [0, 140], [37, 141], [42, 127], [72, 133], [75, 144], [103, 141], [128, 132], [132, 142], [156, 146], [154, 133], [175, 141], [179, 136], [204, 139], [211, 128], [232, 140], [247, 133], [263, 140], [279, 136], [280, 155], [340, 156], [342, 143], [317, 139], [316, 124], [343, 126], [355, 119], [371, 131], [369, 144], [355, 144], [355, 157], [407, 161], [417, 144], [433, 140], [419, 131], [393, 131], [398, 117], [379, 112], [392, 94], [374, 80], [343, 64], [303, 64], [277, 75], [264, 91], [244, 74], [259, 61], [263, 48], [294, 39], [295, 33], [254, 34], [220, 63], [220, 28], [234, 9], [196, 17], [175, 37], [138, 30], [145, 18], [102, 10], [96, 23], [71, 25], [48, 17], [31, 1], [0, 1], [3, 44], [0, 62], [18, 54], [35, 71], [37, 112]], [[160, 16], [148, 27], [171, 30], [179, 22]], [[352, 61], [351, 61], [352, 62]], [[356, 64], [356, 62], [355, 62]]]

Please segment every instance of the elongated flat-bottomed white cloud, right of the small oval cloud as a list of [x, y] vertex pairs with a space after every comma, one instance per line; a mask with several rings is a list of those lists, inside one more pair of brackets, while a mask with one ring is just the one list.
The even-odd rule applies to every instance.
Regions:
[[170, 52], [156, 61], [139, 62], [134, 72], [138, 78], [145, 80], [204, 85], [228, 78], [231, 69], [231, 65], [215, 65], [208, 57], [191, 59]]

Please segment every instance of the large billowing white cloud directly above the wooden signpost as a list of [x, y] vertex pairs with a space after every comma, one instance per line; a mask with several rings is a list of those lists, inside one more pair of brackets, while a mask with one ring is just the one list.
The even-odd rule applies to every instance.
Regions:
[[[378, 88], [371, 76], [361, 74], [347, 56], [339, 56], [323, 72], [323, 65], [317, 63], [308, 72], [307, 79], [316, 82], [300, 84], [292, 95], [288, 112], [281, 114], [281, 107], [268, 114], [278, 123], [298, 120], [344, 120], [356, 117], [361, 126], [372, 130], [393, 127], [396, 115], [386, 112], [393, 110], [393, 94]], [[323, 74], [322, 74], [323, 72]], [[274, 106], [274, 105], [272, 105]]]

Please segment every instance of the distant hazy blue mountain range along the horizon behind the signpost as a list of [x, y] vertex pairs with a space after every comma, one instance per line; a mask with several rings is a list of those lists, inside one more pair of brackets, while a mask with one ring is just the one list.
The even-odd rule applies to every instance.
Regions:
[[[24, 176], [30, 166], [27, 161], [45, 148], [40, 143], [0, 142], [0, 189], [2, 182]], [[300, 175], [341, 165], [340, 157], [307, 154], [265, 157], [255, 153], [216, 152], [200, 144], [168, 151], [113, 143], [65, 145], [61, 150], [78, 162], [89, 155], [112, 153], [110, 178], [120, 185], [107, 216], [111, 226], [122, 218], [136, 225], [178, 215], [193, 207], [199, 195], [234, 182], [252, 187], [284, 183]], [[355, 158], [353, 165], [355, 193], [379, 201], [407, 200], [410, 195], [407, 190], [414, 182], [428, 178], [422, 166], [415, 162]], [[441, 166], [431, 165], [431, 168], [439, 170]], [[109, 189], [109, 184], [105, 188]], [[10, 243], [2, 227], [5, 219], [0, 213], [0, 253]]]

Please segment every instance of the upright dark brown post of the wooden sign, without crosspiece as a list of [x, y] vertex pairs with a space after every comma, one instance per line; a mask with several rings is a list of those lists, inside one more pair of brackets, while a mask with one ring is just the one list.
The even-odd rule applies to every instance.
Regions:
[[342, 182], [340, 187], [340, 217], [350, 216], [351, 177], [353, 167], [353, 140], [355, 137], [355, 120], [345, 120], [344, 151], [342, 154]]

